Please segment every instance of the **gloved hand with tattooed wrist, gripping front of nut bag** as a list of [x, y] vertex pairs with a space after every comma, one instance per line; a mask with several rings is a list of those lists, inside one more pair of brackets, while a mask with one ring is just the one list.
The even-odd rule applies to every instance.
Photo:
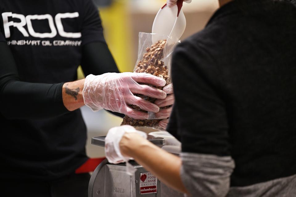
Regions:
[[142, 110], [158, 112], [159, 107], [134, 94], [143, 94], [152, 98], [166, 98], [167, 94], [148, 85], [164, 86], [166, 81], [147, 73], [105, 73], [101, 75], [88, 75], [83, 88], [84, 104], [99, 111], [106, 109], [128, 115], [134, 119], [148, 119], [148, 114], [135, 110], [128, 105], [137, 105]]

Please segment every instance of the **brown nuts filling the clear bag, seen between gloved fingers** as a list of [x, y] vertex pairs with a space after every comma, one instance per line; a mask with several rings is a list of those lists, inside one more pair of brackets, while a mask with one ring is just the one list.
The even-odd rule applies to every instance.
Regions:
[[[167, 40], [159, 40], [157, 43], [146, 48], [147, 53], [143, 55], [142, 61], [138, 62], [137, 68], [134, 72], [136, 73], [149, 73], [155, 76], [161, 77], [166, 80], [166, 85], [170, 83], [169, 70], [167, 66], [164, 66], [164, 62], [161, 61], [163, 55], [163, 49], [166, 45]], [[151, 85], [150, 85], [151, 86]], [[155, 87], [155, 86], [154, 86]], [[163, 87], [155, 87], [162, 90]], [[156, 98], [150, 98], [142, 94], [135, 94], [151, 103], [154, 103]], [[144, 111], [136, 105], [130, 105], [130, 107], [137, 109], [139, 111]], [[167, 107], [161, 107], [160, 109], [165, 109]], [[147, 111], [144, 111], [147, 112]], [[159, 119], [153, 120], [136, 120], [128, 116], [123, 118], [121, 125], [131, 125], [134, 127], [157, 127]]]

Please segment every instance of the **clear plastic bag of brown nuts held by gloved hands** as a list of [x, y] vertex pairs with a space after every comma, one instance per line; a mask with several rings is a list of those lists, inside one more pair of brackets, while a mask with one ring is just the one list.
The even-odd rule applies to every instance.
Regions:
[[[138, 60], [134, 68], [134, 72], [138, 73], [149, 73], [155, 76], [161, 77], [166, 80], [166, 85], [171, 83], [171, 55], [175, 46], [180, 41], [174, 38], [168, 38], [168, 36], [163, 36], [162, 40], [156, 43], [152, 43], [152, 34], [149, 33], [139, 33], [139, 47], [138, 47]], [[162, 90], [163, 87], [156, 87]], [[144, 98], [145, 100], [154, 103], [156, 98], [151, 98], [144, 96], [142, 94], [136, 94], [136, 96]], [[144, 111], [138, 106], [130, 105], [130, 107]], [[170, 106], [167, 106], [170, 107]], [[165, 109], [167, 107], [162, 107]], [[134, 127], [153, 127], [158, 128], [158, 123], [161, 119], [156, 119], [153, 112], [144, 111], [149, 114], [149, 119], [147, 120], [136, 120], [128, 116], [123, 118], [121, 125], [131, 125]]]

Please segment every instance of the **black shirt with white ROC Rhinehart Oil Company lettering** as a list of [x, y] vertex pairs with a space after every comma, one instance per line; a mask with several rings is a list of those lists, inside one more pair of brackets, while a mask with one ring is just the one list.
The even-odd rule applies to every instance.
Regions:
[[87, 159], [80, 110], [64, 82], [118, 72], [91, 0], [0, 4], [0, 179], [56, 179]]

